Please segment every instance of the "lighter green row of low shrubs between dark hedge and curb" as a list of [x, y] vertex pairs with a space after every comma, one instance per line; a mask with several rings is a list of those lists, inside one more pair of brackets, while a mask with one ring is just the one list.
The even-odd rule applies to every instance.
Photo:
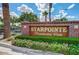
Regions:
[[68, 47], [64, 44], [59, 44], [59, 43], [49, 44], [47, 42], [35, 42], [32, 40], [16, 39], [14, 40], [13, 45], [19, 47], [33, 48], [43, 51], [52, 51], [57, 53], [68, 54]]

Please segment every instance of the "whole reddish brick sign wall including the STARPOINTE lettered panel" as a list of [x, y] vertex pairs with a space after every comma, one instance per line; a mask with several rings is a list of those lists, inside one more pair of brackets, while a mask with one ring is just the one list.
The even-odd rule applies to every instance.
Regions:
[[79, 37], [79, 21], [23, 22], [24, 35]]

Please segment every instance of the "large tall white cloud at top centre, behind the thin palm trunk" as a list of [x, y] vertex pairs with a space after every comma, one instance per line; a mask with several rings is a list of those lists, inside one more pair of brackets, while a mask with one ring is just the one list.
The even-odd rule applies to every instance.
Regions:
[[[49, 4], [48, 3], [35, 3], [37, 10], [40, 11], [40, 20], [44, 21], [44, 16], [43, 16], [43, 12], [49, 10]], [[54, 8], [52, 7], [51, 12], [54, 11]]]

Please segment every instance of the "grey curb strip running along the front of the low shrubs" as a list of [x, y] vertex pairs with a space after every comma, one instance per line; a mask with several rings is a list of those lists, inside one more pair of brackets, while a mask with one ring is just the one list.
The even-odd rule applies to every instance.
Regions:
[[47, 51], [34, 50], [34, 49], [30, 49], [30, 48], [17, 47], [17, 46], [13, 46], [11, 44], [4, 43], [4, 42], [0, 42], [0, 46], [9, 48], [12, 51], [15, 51], [17, 53], [22, 53], [25, 55], [63, 55], [60, 53], [52, 53], [52, 52], [47, 52]]

